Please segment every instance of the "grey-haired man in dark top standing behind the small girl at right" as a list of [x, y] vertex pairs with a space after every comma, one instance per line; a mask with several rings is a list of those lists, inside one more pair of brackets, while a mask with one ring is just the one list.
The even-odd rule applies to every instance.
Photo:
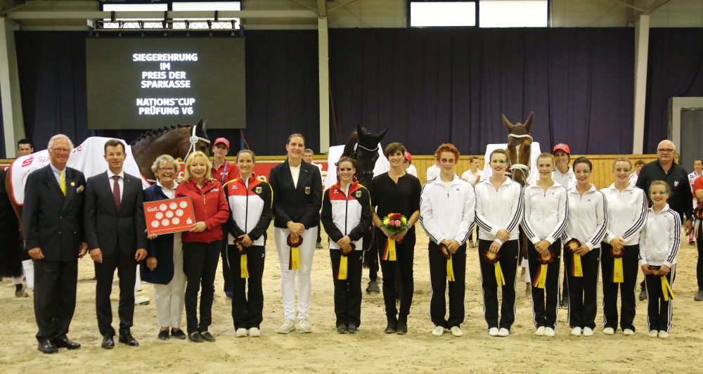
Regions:
[[[685, 222], [685, 234], [688, 236], [693, 231], [693, 199], [688, 172], [673, 161], [676, 156], [676, 146], [672, 141], [663, 140], [657, 145], [657, 160], [645, 165], [637, 178], [636, 186], [645, 193], [649, 191], [652, 181], [665, 181], [669, 183], [669, 207], [677, 212], [682, 222]], [[650, 201], [650, 204], [652, 202]], [[700, 278], [699, 278], [700, 279]], [[647, 298], [645, 281], [640, 283], [640, 301]]]

